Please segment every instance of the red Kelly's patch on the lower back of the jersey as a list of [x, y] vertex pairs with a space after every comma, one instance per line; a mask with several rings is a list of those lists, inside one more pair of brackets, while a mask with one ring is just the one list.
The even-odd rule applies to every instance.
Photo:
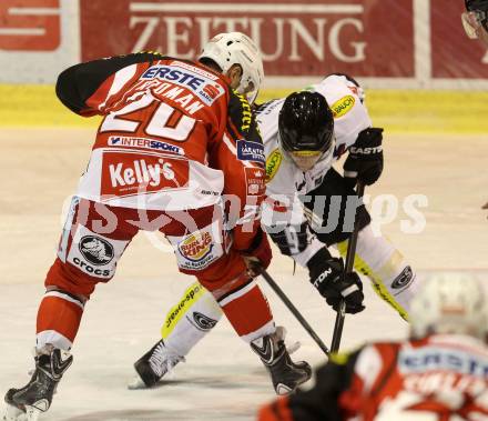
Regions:
[[189, 161], [174, 156], [104, 152], [102, 196], [132, 196], [186, 187]]

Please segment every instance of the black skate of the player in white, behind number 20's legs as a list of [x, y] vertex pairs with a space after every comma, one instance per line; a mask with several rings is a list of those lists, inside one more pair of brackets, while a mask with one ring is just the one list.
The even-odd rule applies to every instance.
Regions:
[[139, 374], [129, 389], [152, 388], [164, 374], [171, 371], [180, 361], [184, 361], [184, 357], [180, 357], [171, 352], [164, 341], [161, 339], [134, 363], [134, 369]]

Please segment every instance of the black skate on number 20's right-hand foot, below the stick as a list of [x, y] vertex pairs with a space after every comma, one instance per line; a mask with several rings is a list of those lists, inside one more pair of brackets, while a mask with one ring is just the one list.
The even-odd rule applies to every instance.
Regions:
[[251, 348], [261, 357], [270, 371], [273, 387], [277, 394], [288, 394], [312, 377], [312, 368], [305, 361], [293, 362], [284, 342], [285, 330], [276, 328], [276, 332], [251, 342]]

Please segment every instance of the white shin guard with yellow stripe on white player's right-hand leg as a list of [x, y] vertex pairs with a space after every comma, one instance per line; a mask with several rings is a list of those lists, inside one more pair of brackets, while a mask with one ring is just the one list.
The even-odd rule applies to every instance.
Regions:
[[[337, 244], [342, 255], [347, 241]], [[408, 320], [411, 298], [417, 290], [417, 277], [403, 254], [384, 237], [375, 235], [370, 227], [359, 231], [354, 268], [372, 281], [377, 294]]]

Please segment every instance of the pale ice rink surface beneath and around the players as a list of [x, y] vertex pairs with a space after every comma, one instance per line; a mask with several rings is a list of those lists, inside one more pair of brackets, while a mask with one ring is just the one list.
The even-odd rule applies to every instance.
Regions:
[[[37, 305], [44, 273], [54, 257], [60, 209], [84, 168], [92, 130], [3, 130], [0, 133], [0, 394], [23, 385], [32, 368]], [[382, 181], [367, 190], [426, 194], [426, 229], [405, 234], [398, 218], [383, 228], [423, 277], [460, 269], [488, 282], [488, 142], [466, 137], [392, 137], [386, 143]], [[289, 299], [327, 343], [335, 314], [306, 281], [293, 275], [291, 260], [275, 252], [270, 270]], [[253, 420], [257, 407], [274, 398], [256, 355], [223, 320], [179, 364], [164, 384], [130, 391], [132, 363], [159, 339], [165, 311], [191, 278], [179, 274], [173, 255], [140, 234], [116, 277], [102, 284], [85, 309], [73, 349], [74, 363], [41, 420]], [[318, 347], [265, 284], [275, 320], [302, 348], [294, 359], [317, 365]], [[347, 315], [343, 349], [365, 340], [399, 339], [401, 319], [365, 288], [367, 309]]]

